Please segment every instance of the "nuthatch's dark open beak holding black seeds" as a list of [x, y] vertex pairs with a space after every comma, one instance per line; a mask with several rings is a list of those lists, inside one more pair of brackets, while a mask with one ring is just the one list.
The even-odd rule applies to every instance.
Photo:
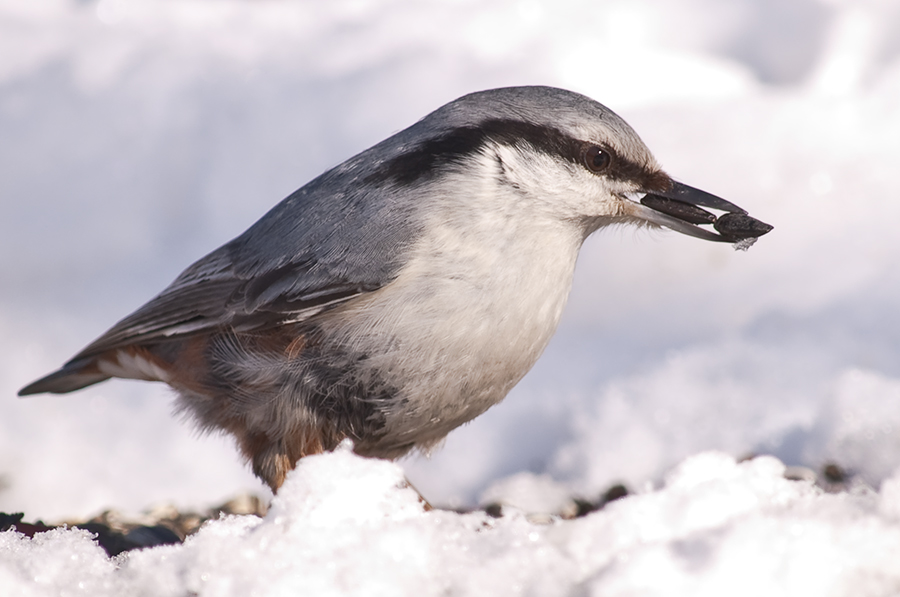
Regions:
[[[772, 226], [747, 215], [747, 211], [706, 191], [672, 181], [666, 191], [646, 193], [630, 206], [632, 215], [671, 230], [704, 240], [752, 244]], [[715, 215], [703, 207], [725, 212]], [[712, 225], [714, 230], [701, 228]]]

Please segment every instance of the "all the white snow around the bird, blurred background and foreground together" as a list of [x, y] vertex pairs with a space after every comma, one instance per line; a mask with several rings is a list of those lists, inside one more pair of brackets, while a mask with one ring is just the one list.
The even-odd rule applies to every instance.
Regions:
[[[532, 373], [400, 463], [436, 504], [636, 495], [550, 525], [423, 513], [394, 465], [328, 455], [264, 520], [184, 546], [111, 561], [82, 532], [4, 533], [0, 592], [900, 592], [898, 40], [900, 5], [878, 0], [3, 0], [0, 511], [27, 519], [262, 492], [163, 387], [15, 392], [469, 91], [588, 94], [670, 174], [776, 228], [746, 253], [596, 235]], [[748, 454], [872, 489], [822, 494]]]

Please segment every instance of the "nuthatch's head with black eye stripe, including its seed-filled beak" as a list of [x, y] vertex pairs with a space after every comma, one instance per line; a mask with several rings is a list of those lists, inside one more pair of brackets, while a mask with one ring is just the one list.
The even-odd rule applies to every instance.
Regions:
[[455, 176], [460, 192], [499, 186], [518, 193], [523, 207], [578, 222], [585, 235], [636, 223], [746, 246], [772, 229], [733, 203], [676, 182], [624, 120], [562, 89], [466, 95], [386, 143], [387, 158], [373, 178], [415, 186]]

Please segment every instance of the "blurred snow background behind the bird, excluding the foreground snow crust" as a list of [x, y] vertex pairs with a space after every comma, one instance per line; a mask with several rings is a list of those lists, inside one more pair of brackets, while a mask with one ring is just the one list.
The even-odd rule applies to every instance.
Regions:
[[[0, 1], [0, 510], [263, 492], [162, 385], [15, 398], [290, 192], [465, 93], [590, 95], [775, 231], [606, 230], [509, 398], [401, 464], [434, 503], [591, 498], [686, 457], [900, 465], [900, 4]], [[545, 478], [545, 477], [540, 477]], [[490, 493], [490, 492], [489, 492]]]

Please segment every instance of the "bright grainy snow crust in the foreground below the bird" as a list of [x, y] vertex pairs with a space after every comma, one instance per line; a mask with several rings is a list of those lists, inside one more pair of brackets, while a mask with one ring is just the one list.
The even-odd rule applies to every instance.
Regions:
[[772, 457], [682, 462], [577, 520], [425, 511], [402, 469], [304, 459], [260, 519], [110, 561], [85, 531], [0, 534], [8, 595], [881, 595], [900, 585], [900, 478], [827, 494]]

